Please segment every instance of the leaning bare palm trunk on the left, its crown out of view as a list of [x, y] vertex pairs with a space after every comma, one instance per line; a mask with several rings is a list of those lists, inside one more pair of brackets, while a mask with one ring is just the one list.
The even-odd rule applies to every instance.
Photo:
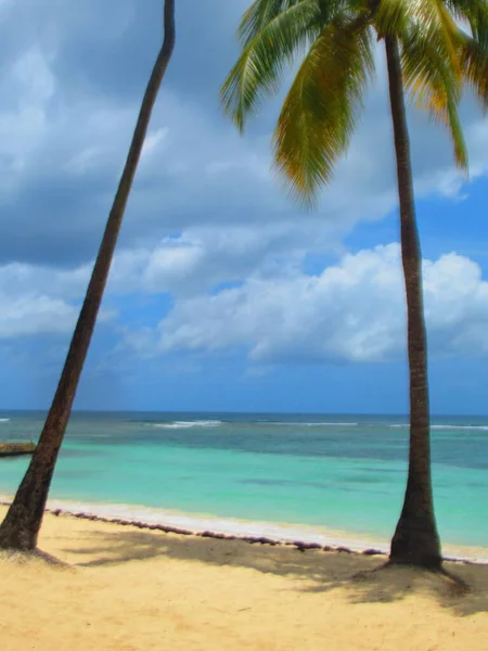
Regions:
[[175, 48], [175, 0], [164, 2], [164, 41], [152, 71], [126, 165], [106, 222], [78, 322], [39, 444], [15, 498], [0, 526], [0, 548], [33, 550], [42, 523], [57, 455], [72, 412], [118, 233], [141, 156], [151, 114]]

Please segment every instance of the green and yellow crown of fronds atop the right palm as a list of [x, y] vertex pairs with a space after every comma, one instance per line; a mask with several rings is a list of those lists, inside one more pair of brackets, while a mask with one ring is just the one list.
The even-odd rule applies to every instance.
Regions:
[[458, 106], [468, 85], [488, 107], [485, 0], [256, 0], [239, 28], [242, 54], [222, 102], [242, 130], [303, 54], [273, 138], [275, 165], [298, 197], [313, 200], [330, 180], [374, 74], [374, 41], [386, 35], [400, 47], [406, 89], [449, 129], [455, 161], [467, 168]]

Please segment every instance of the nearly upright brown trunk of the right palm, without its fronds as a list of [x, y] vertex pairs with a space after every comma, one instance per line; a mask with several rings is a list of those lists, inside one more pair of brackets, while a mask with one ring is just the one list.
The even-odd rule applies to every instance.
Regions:
[[422, 253], [415, 219], [410, 141], [398, 42], [385, 37], [389, 99], [400, 202], [401, 259], [407, 295], [410, 373], [410, 454], [403, 508], [391, 540], [390, 562], [439, 569], [440, 541], [431, 475], [431, 417], [427, 381]]

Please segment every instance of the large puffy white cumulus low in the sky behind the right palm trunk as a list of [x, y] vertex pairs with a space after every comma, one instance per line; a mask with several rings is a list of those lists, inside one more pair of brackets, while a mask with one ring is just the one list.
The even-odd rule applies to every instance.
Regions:
[[[488, 353], [488, 283], [451, 253], [424, 261], [426, 319], [436, 356]], [[345, 256], [319, 276], [249, 279], [178, 302], [158, 349], [246, 349], [258, 362], [382, 361], [404, 349], [399, 246]], [[153, 342], [154, 343], [154, 342]]]

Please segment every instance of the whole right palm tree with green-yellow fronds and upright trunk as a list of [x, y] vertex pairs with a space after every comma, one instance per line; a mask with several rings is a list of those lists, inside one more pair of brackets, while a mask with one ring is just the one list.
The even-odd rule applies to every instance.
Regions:
[[[459, 23], [470, 25], [471, 35]], [[240, 130], [286, 64], [300, 59], [274, 131], [274, 161], [292, 194], [313, 203], [348, 146], [374, 72], [374, 41], [386, 50], [400, 204], [408, 312], [410, 458], [390, 562], [441, 566], [434, 514], [422, 255], [415, 221], [404, 90], [449, 130], [458, 165], [467, 155], [458, 117], [465, 84], [488, 106], [485, 0], [256, 0], [244, 14], [242, 53], [221, 99]]]

